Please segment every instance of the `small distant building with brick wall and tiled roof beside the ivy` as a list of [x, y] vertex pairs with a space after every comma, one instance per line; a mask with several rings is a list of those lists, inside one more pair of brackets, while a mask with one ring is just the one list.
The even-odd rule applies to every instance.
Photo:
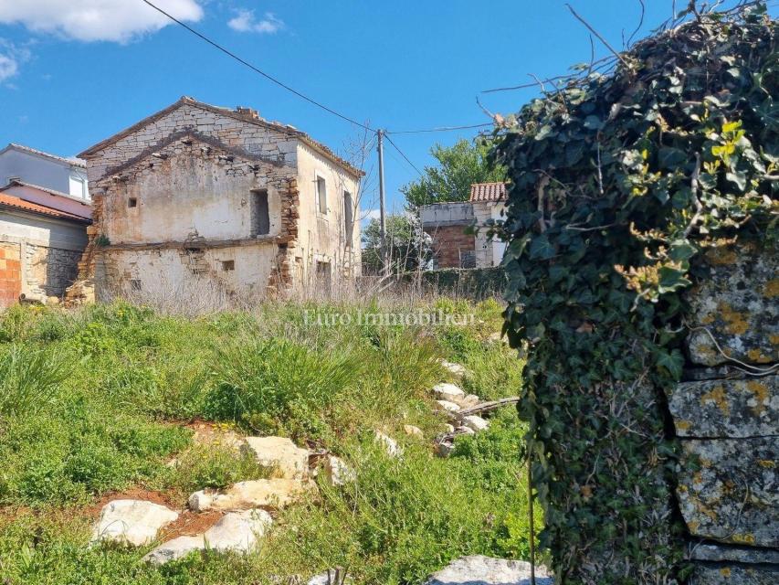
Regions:
[[435, 268], [498, 266], [506, 244], [490, 237], [500, 222], [506, 200], [504, 183], [475, 183], [468, 201], [422, 207], [422, 228], [433, 240]]

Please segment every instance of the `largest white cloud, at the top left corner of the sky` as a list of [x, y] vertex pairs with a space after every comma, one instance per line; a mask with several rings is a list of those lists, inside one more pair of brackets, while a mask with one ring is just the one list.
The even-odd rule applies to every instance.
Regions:
[[[203, 17], [196, 0], [156, 0], [154, 4], [179, 20]], [[21, 24], [35, 33], [74, 40], [119, 43], [173, 24], [141, 0], [0, 0], [0, 23]]]

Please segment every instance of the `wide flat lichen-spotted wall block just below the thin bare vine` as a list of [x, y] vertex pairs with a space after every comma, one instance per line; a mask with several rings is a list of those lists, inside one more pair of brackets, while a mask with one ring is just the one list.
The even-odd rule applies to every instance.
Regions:
[[668, 408], [680, 437], [779, 435], [779, 376], [683, 382]]

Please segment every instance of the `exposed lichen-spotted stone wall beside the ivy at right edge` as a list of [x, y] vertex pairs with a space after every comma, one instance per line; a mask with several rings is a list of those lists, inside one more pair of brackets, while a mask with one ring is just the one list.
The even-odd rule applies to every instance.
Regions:
[[[705, 255], [685, 380], [668, 392], [695, 585], [779, 583], [779, 254]], [[772, 367], [774, 365], [774, 367]]]

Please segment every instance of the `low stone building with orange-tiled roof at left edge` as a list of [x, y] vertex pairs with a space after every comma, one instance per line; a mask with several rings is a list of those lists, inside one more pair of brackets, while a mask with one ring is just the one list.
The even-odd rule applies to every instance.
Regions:
[[0, 188], [0, 308], [61, 298], [76, 279], [91, 207], [42, 186]]

